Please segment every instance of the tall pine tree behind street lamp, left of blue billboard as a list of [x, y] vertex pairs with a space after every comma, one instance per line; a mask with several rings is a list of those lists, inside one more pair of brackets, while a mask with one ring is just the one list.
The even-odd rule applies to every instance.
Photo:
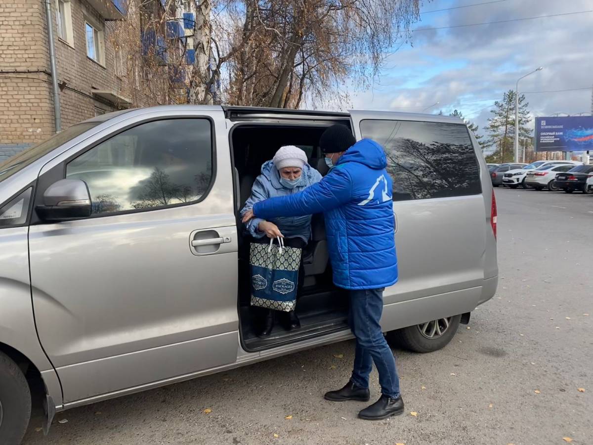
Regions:
[[[490, 111], [493, 116], [488, 119], [488, 125], [484, 127], [489, 138], [484, 141], [483, 147], [495, 147], [495, 151], [486, 160], [499, 163], [512, 162], [514, 160], [515, 91], [507, 91], [502, 101], [497, 100], [494, 105], [495, 109]], [[528, 106], [525, 95], [519, 95], [519, 138], [531, 137], [531, 129], [527, 127], [531, 120]]]

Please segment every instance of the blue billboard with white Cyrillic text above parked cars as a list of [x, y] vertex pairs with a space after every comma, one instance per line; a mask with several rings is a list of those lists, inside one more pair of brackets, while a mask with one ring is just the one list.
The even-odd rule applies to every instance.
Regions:
[[593, 151], [593, 116], [535, 117], [535, 151]]

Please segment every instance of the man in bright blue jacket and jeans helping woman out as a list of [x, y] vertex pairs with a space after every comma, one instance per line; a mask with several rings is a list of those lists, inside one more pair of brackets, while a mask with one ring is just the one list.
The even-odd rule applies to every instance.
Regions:
[[325, 398], [334, 402], [369, 400], [369, 374], [374, 362], [381, 398], [359, 412], [359, 417], [384, 419], [404, 409], [396, 361], [379, 324], [383, 290], [397, 282], [387, 158], [381, 145], [371, 139], [356, 142], [343, 125], [330, 126], [319, 145], [329, 173], [300, 193], [257, 202], [244, 220], [324, 213], [333, 281], [350, 291], [349, 324], [356, 336], [352, 377], [346, 386], [326, 393]]

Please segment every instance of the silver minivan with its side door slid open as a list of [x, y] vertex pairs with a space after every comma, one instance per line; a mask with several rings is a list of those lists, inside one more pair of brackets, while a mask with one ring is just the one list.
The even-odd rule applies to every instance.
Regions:
[[27, 380], [43, 382], [47, 431], [57, 411], [351, 338], [323, 215], [305, 252], [301, 328], [255, 335], [238, 216], [280, 145], [298, 145], [326, 173], [318, 141], [336, 122], [379, 142], [394, 180], [400, 281], [385, 290], [382, 328], [413, 351], [444, 347], [498, 282], [492, 184], [461, 120], [111, 113], [0, 164], [0, 443], [27, 428]]

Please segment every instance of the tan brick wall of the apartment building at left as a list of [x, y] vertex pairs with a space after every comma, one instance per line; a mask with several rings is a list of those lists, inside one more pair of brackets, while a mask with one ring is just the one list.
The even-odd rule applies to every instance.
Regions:
[[[104, 21], [85, 0], [71, 0], [71, 46], [58, 37], [55, 6], [52, 2], [62, 129], [95, 116], [95, 108], [117, 109], [94, 97], [93, 90], [110, 90], [133, 99], [133, 106], [148, 104], [147, 97], [132, 92], [133, 76], [115, 74], [110, 37], [117, 24]], [[104, 28], [104, 65], [87, 57], [85, 20]], [[33, 144], [55, 132], [47, 41], [44, 0], [0, 0], [0, 146]]]

